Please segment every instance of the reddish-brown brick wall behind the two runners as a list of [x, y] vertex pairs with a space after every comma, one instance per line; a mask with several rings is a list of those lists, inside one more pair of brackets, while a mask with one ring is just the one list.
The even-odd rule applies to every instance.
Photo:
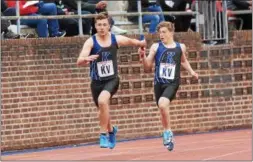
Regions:
[[[157, 40], [146, 38], [149, 44]], [[97, 141], [89, 69], [76, 66], [85, 39], [1, 42], [2, 151]], [[178, 33], [176, 39], [189, 47], [188, 58], [200, 79], [182, 71], [182, 86], [170, 108], [172, 129], [187, 133], [251, 127], [251, 44], [201, 47], [195, 33]], [[121, 84], [111, 101], [118, 138], [160, 135], [153, 74], [143, 73], [136, 48], [121, 48], [118, 59]]]

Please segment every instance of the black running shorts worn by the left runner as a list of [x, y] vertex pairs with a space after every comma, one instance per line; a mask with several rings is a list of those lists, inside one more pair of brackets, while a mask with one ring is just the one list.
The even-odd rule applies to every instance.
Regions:
[[91, 93], [93, 101], [95, 102], [96, 106], [98, 107], [98, 97], [102, 91], [108, 91], [111, 94], [111, 97], [117, 92], [119, 88], [119, 77], [99, 81], [99, 80], [92, 80], [91, 81]]

